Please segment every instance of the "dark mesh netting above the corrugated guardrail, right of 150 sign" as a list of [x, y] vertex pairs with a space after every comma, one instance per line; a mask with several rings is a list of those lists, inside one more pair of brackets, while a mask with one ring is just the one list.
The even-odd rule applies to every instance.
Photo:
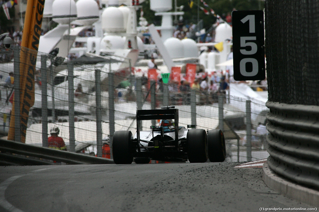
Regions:
[[319, 0], [265, 1], [269, 101], [319, 105]]

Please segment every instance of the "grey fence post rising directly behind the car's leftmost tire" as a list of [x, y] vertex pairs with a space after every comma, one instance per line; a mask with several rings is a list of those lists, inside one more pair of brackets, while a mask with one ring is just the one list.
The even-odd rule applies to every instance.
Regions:
[[[112, 152], [113, 134], [115, 132], [115, 109], [114, 109], [114, 74], [108, 73], [108, 123], [110, 131], [110, 152]], [[113, 154], [111, 153], [111, 159]]]

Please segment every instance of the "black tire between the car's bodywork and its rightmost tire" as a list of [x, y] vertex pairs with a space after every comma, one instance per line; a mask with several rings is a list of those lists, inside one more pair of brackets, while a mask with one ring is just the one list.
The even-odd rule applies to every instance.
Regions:
[[192, 129], [187, 132], [187, 157], [190, 163], [204, 163], [208, 159], [207, 136], [203, 129]]

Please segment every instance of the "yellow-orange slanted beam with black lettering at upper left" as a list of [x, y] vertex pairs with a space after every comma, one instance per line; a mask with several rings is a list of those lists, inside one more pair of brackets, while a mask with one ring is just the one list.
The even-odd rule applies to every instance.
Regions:
[[[34, 71], [41, 35], [44, 0], [28, 0], [20, 51], [20, 142], [26, 142], [29, 110], [34, 104]], [[14, 139], [14, 102], [12, 104], [8, 140]]]

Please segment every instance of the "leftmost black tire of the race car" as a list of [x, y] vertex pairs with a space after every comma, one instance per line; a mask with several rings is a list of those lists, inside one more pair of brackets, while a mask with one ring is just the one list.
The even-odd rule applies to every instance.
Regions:
[[131, 164], [133, 162], [132, 139], [131, 131], [114, 132], [112, 152], [115, 164]]

